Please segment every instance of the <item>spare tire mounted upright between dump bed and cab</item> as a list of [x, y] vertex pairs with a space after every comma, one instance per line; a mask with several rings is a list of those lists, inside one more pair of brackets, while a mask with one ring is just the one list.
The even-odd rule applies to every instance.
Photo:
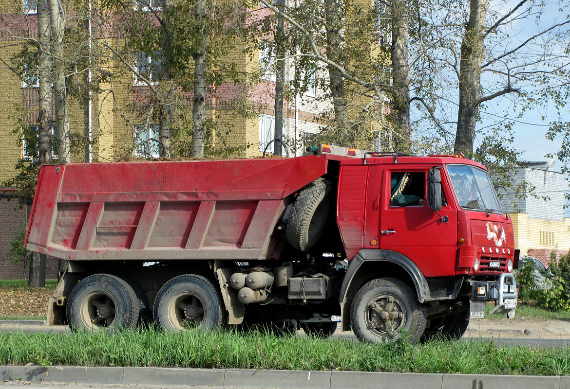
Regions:
[[331, 181], [319, 178], [297, 196], [285, 230], [287, 242], [295, 249], [309, 251], [323, 236], [331, 214], [332, 191]]

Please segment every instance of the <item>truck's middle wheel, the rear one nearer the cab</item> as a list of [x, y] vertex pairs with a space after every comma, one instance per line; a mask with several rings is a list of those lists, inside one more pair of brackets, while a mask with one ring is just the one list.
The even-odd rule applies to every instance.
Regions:
[[184, 274], [164, 284], [154, 300], [154, 320], [170, 332], [200, 327], [213, 329], [226, 321], [226, 309], [205, 277]]

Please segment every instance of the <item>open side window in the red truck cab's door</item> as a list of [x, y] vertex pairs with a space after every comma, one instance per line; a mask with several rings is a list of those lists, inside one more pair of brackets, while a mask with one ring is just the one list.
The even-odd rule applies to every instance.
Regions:
[[390, 206], [423, 206], [425, 191], [425, 172], [392, 172]]

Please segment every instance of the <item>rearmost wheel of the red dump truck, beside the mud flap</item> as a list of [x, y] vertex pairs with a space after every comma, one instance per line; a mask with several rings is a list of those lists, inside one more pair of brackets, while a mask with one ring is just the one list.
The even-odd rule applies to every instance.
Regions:
[[112, 333], [135, 328], [142, 310], [139, 296], [127, 281], [111, 274], [93, 274], [71, 291], [67, 322], [74, 330]]

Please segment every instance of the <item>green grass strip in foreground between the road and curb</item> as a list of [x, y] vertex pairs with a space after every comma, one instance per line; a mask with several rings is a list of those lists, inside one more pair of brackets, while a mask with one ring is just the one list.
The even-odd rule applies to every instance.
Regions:
[[495, 346], [492, 341], [406, 341], [274, 337], [260, 332], [118, 334], [0, 333], [0, 365], [169, 366], [416, 373], [568, 375], [570, 346]]

